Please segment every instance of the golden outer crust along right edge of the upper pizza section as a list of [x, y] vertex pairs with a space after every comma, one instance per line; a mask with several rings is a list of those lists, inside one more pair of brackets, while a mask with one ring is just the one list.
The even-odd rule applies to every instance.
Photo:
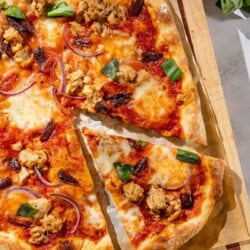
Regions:
[[[207, 145], [206, 130], [202, 118], [199, 95], [189, 69], [188, 59], [171, 9], [167, 1], [164, 0], [146, 0], [146, 4], [154, 10], [150, 11], [149, 9], [154, 19], [154, 24], [159, 32], [157, 39], [158, 47], [160, 47], [161, 42], [167, 41], [170, 45], [170, 56], [175, 59], [184, 72], [182, 79], [183, 93], [178, 97], [183, 101], [180, 122], [184, 137], [195, 143]], [[168, 136], [168, 132], [163, 131], [162, 134]]]

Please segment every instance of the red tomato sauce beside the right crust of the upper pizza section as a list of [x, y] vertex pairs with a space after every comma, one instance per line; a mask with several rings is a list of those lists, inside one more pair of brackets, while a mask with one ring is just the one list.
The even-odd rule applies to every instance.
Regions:
[[[153, 24], [151, 16], [144, 6], [140, 14], [136, 17], [129, 17], [127, 22], [119, 28], [127, 33], [136, 34], [137, 37], [137, 47], [142, 50], [142, 52], [163, 52], [164, 57], [169, 53], [169, 47], [167, 44], [163, 44], [160, 47], [160, 51], [156, 49], [156, 36], [157, 29]], [[179, 137], [182, 135], [183, 130], [180, 124], [180, 111], [179, 107], [183, 102], [177, 101], [178, 94], [182, 90], [182, 80], [178, 80], [174, 83], [170, 83], [168, 77], [162, 69], [162, 64], [165, 62], [165, 58], [161, 58], [157, 61], [140, 63], [145, 65], [147, 69], [155, 78], [159, 84], [165, 86], [168, 97], [174, 99], [174, 107], [172, 108], [172, 113], [163, 117], [158, 123], [150, 122], [144, 120], [140, 115], [138, 115], [134, 109], [132, 101], [121, 105], [119, 107], [110, 107], [108, 108], [108, 113], [111, 116], [122, 118], [123, 121], [135, 124], [139, 127], [146, 127], [152, 130], [162, 130], [169, 131], [169, 135]], [[132, 65], [131, 65], [132, 66]], [[131, 88], [129, 84], [118, 84], [115, 82], [106, 84], [103, 87], [104, 100], [106, 96], [116, 95], [119, 93], [133, 93], [134, 88]]]

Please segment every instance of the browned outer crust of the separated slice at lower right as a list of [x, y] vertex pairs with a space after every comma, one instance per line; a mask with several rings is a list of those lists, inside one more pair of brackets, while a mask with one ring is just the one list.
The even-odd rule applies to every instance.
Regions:
[[206, 194], [199, 216], [188, 220], [184, 224], [171, 225], [159, 235], [149, 235], [143, 241], [138, 250], [175, 250], [195, 236], [206, 224], [213, 211], [216, 199], [222, 194], [222, 180], [224, 175], [225, 163], [212, 157], [207, 157], [205, 165], [210, 166], [207, 178], [209, 183], [204, 187]]

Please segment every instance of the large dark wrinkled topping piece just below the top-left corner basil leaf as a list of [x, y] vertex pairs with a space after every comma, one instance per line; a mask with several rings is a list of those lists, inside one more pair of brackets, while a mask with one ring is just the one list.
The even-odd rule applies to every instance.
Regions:
[[7, 16], [8, 23], [17, 30], [21, 35], [32, 35], [35, 33], [35, 28], [31, 21], [26, 19], [17, 19]]

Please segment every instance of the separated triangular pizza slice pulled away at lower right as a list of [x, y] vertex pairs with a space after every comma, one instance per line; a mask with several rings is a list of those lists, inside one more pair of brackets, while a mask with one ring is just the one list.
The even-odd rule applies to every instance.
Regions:
[[224, 162], [83, 129], [133, 249], [177, 249], [205, 225], [222, 193]]

